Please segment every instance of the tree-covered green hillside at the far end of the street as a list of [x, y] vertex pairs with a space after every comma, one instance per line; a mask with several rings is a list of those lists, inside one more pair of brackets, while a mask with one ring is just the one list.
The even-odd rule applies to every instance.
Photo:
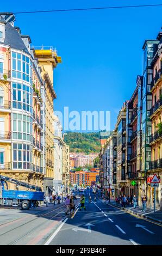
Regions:
[[100, 132], [66, 132], [64, 137], [70, 152], [99, 153]]

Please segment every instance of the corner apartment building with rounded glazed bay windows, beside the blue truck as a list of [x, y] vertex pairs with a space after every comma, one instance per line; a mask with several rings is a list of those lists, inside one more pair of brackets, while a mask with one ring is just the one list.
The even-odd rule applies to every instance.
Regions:
[[0, 32], [0, 173], [43, 188], [41, 70], [29, 35], [3, 15]]

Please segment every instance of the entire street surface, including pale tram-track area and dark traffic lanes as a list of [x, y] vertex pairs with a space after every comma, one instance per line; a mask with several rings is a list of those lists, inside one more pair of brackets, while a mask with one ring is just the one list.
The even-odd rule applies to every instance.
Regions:
[[[101, 200], [65, 216], [64, 203], [37, 209], [0, 209], [1, 245], [161, 245], [161, 226], [142, 220]], [[76, 205], [79, 202], [77, 200]]]

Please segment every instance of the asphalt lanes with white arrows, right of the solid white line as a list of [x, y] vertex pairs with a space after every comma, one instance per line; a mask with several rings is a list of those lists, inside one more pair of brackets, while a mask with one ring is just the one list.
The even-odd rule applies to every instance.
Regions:
[[[86, 192], [88, 193], [88, 192]], [[89, 203], [86, 211], [79, 209], [55, 231], [49, 245], [162, 245], [161, 227], [103, 204], [101, 200]]]

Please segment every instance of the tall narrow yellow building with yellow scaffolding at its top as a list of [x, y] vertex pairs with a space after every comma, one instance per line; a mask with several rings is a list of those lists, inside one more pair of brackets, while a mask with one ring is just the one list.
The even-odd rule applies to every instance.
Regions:
[[44, 177], [44, 190], [48, 194], [53, 192], [54, 179], [54, 108], [53, 101], [56, 94], [53, 88], [53, 70], [57, 64], [61, 62], [61, 58], [57, 56], [57, 51], [49, 48], [35, 48], [35, 58], [39, 60], [41, 68], [41, 76], [44, 85], [44, 101], [45, 101], [45, 140], [46, 140], [46, 173]]

